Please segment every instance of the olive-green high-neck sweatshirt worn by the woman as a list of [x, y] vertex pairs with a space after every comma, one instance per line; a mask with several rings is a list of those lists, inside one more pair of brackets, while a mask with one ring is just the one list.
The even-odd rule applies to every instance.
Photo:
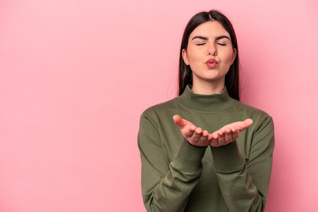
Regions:
[[[266, 112], [229, 96], [182, 95], [140, 116], [141, 189], [147, 211], [264, 211], [274, 150], [274, 123]], [[253, 120], [234, 142], [189, 145], [172, 117], [179, 115], [212, 133], [232, 122]]]

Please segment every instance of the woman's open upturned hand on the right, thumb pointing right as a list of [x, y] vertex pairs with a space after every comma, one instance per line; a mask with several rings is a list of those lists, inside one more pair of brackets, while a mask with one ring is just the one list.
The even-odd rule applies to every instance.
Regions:
[[234, 142], [239, 137], [240, 132], [249, 127], [253, 123], [251, 119], [245, 119], [244, 121], [233, 122], [227, 124], [221, 129], [213, 132], [210, 145], [212, 147], [225, 146]]

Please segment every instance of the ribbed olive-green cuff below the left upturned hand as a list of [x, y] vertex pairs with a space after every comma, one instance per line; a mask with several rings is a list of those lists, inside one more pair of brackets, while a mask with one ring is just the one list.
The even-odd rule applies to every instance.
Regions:
[[190, 145], [183, 137], [177, 154], [174, 156], [176, 166], [187, 172], [198, 172], [202, 169], [202, 158], [207, 147]]

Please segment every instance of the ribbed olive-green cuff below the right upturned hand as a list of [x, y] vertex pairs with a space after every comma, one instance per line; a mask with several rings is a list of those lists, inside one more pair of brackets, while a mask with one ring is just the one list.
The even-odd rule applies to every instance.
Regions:
[[235, 171], [244, 164], [245, 160], [239, 152], [236, 140], [225, 146], [210, 147], [215, 169]]

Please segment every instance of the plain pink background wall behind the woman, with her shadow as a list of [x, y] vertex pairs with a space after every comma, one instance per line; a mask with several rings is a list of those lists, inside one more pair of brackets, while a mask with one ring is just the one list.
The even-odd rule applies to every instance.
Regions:
[[269, 113], [267, 212], [318, 211], [317, 2], [0, 2], [0, 211], [145, 211], [140, 114], [175, 97], [187, 21], [232, 21], [242, 101]]

